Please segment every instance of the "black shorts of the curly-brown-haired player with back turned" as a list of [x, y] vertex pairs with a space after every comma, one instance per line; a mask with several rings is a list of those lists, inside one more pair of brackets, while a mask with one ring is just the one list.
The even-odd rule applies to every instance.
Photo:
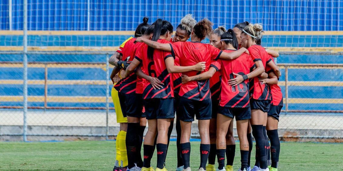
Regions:
[[198, 120], [211, 119], [212, 102], [211, 99], [197, 101], [185, 97], [180, 97], [179, 101], [180, 120], [185, 122], [194, 121], [194, 115]]

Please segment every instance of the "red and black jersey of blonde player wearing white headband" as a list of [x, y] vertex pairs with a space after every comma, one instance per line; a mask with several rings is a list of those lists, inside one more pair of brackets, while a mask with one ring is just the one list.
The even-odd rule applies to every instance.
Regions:
[[[250, 56], [252, 60], [255, 61], [262, 61], [263, 67], [268, 63], [270, 60], [269, 54], [263, 47], [260, 45], [252, 45], [248, 48]], [[255, 100], [271, 100], [271, 95], [269, 91], [269, 86], [267, 84], [263, 84], [258, 80], [258, 77], [254, 77], [250, 79], [250, 97]]]

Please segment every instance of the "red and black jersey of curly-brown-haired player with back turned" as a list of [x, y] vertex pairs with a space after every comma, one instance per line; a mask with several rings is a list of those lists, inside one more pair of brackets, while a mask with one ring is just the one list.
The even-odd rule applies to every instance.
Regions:
[[[217, 60], [222, 53], [221, 50], [210, 44], [201, 42], [175, 42], [170, 44], [171, 54], [178, 56], [181, 66], [192, 66], [199, 62], [206, 62], [206, 68], [202, 72], [209, 70], [211, 61]], [[195, 76], [201, 72], [189, 71], [187, 76]], [[189, 81], [181, 85], [179, 95], [188, 99], [202, 101], [211, 98], [210, 81]]]

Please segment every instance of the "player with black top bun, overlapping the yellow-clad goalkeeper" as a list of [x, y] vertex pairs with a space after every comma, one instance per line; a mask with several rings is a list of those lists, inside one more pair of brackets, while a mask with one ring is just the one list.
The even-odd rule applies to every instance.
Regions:
[[[126, 67], [127, 61], [133, 60], [133, 52], [135, 50], [136, 37], [140, 37], [144, 34], [145, 30], [150, 26], [147, 24], [147, 17], [143, 18], [143, 23], [139, 24], [135, 31], [135, 38], [128, 40], [121, 50], [122, 61], [117, 61], [117, 65], [122, 68]], [[114, 60], [113, 60], [114, 61]], [[121, 64], [121, 65], [120, 65]], [[143, 114], [143, 102], [142, 94], [136, 92], [137, 82], [142, 82], [142, 78], [137, 77], [135, 74], [131, 74], [125, 79], [121, 79], [114, 88], [119, 92], [119, 102], [124, 116], [127, 116], [127, 136], [126, 136], [126, 148], [128, 156], [127, 168], [131, 171], [140, 170], [143, 166], [141, 157], [141, 145], [143, 140], [143, 132], [146, 125], [146, 120]], [[134, 104], [134, 105], [132, 105]], [[124, 165], [125, 166], [125, 165]]]

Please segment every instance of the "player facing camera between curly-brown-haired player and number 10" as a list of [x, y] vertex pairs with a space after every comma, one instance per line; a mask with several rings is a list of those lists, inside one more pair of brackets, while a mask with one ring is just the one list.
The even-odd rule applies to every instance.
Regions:
[[[213, 33], [210, 35], [210, 44], [220, 50], [223, 49], [221, 44], [221, 36], [226, 32], [226, 29], [223, 26], [220, 26], [213, 30]], [[215, 68], [210, 68], [210, 70], [215, 70]], [[207, 72], [210, 72], [207, 71]], [[217, 130], [217, 108], [219, 104], [219, 95], [221, 91], [221, 76], [219, 72], [215, 72], [214, 75], [210, 78], [210, 91], [211, 91], [211, 100], [212, 100], [212, 118], [210, 119], [210, 154], [209, 154], [209, 164], [206, 166], [207, 171], [215, 171], [215, 157], [216, 157], [216, 130]], [[227, 165], [226, 170], [233, 170], [233, 161], [235, 158], [235, 139], [233, 137], [233, 121], [231, 121], [229, 130], [226, 136], [226, 158]]]

